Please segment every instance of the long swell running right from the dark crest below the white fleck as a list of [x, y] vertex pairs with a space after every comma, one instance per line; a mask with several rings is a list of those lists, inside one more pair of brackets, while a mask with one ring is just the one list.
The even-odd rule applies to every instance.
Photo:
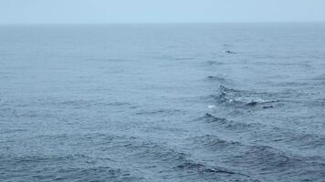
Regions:
[[[325, 136], [299, 133], [295, 130], [282, 128], [278, 126], [264, 125], [260, 123], [243, 123], [233, 120], [228, 120], [223, 117], [213, 116], [206, 113], [203, 117], [195, 119], [196, 121], [204, 121], [208, 124], [213, 124], [213, 128], [218, 128], [221, 132], [227, 134], [228, 132], [244, 135], [252, 142], [265, 143], [268, 142], [274, 145], [281, 145], [287, 148], [298, 148], [309, 150], [309, 154], [317, 157], [325, 147]], [[302, 153], [303, 154], [303, 153]]]

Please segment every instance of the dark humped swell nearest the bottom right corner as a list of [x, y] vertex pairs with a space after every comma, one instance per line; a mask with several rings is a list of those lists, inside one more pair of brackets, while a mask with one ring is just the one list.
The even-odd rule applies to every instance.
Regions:
[[302, 157], [269, 146], [246, 146], [238, 148], [238, 153], [228, 157], [226, 162], [249, 167], [253, 171], [263, 174], [301, 175], [304, 169], [310, 173], [322, 173], [325, 164], [321, 157]]

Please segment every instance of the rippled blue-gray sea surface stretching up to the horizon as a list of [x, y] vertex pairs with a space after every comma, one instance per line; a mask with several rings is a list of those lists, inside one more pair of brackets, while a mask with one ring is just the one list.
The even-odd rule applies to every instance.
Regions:
[[0, 181], [324, 182], [325, 24], [1, 25]]

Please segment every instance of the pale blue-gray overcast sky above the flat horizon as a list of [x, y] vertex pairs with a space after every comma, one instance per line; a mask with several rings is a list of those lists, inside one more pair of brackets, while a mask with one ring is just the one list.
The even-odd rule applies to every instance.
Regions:
[[0, 24], [325, 22], [325, 0], [0, 0]]

